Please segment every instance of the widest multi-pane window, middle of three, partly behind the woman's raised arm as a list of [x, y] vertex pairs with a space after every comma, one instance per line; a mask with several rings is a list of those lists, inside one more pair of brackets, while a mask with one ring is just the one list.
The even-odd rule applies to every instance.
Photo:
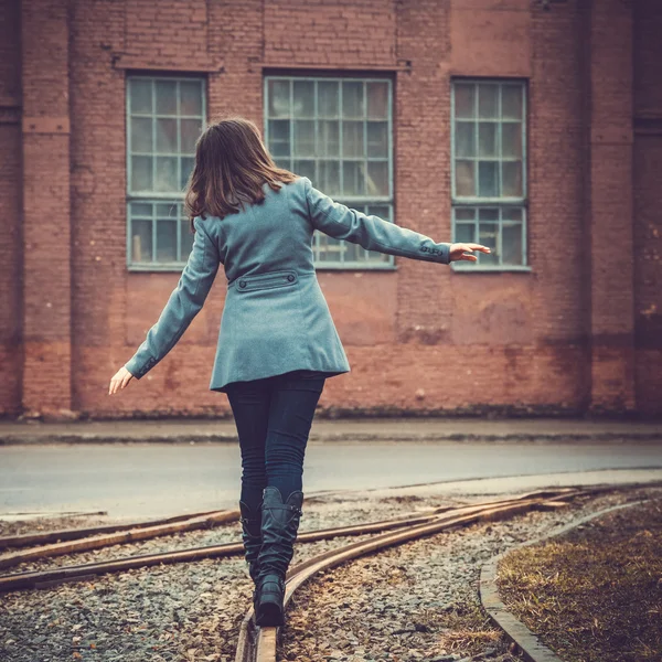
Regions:
[[[386, 78], [265, 77], [265, 138], [278, 166], [338, 202], [393, 222], [392, 85]], [[392, 268], [393, 256], [319, 231], [316, 267]]]

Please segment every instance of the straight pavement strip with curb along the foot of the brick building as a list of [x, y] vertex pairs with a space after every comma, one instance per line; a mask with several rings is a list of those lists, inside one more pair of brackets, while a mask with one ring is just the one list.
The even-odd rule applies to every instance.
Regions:
[[[312, 442], [417, 441], [662, 442], [662, 420], [580, 418], [369, 417], [317, 418]], [[0, 446], [18, 444], [236, 444], [234, 418], [0, 420]]]

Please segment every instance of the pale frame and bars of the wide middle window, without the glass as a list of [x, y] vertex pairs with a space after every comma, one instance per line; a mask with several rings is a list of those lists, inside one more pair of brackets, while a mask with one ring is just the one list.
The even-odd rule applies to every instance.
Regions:
[[[369, 84], [369, 83], [386, 83], [387, 85], [387, 131], [388, 131], [388, 149], [387, 149], [387, 166], [388, 166], [388, 188], [389, 188], [389, 195], [373, 195], [373, 196], [367, 196], [367, 195], [343, 195], [334, 197], [334, 200], [337, 200], [338, 202], [345, 204], [346, 206], [356, 209], [357, 211], [362, 211], [364, 213], [367, 213], [369, 207], [375, 207], [375, 206], [387, 206], [388, 207], [388, 215], [387, 216], [380, 216], [381, 218], [384, 218], [385, 221], [389, 222], [389, 223], [395, 223], [395, 185], [394, 185], [394, 142], [395, 142], [395, 137], [394, 137], [394, 131], [393, 131], [393, 102], [394, 102], [394, 85], [395, 85], [395, 81], [393, 79], [392, 76], [375, 76], [375, 75], [366, 75], [366, 76], [360, 76], [356, 74], [349, 74], [346, 76], [344, 75], [339, 75], [339, 74], [334, 74], [334, 73], [314, 73], [314, 74], [297, 74], [297, 73], [266, 73], [263, 76], [263, 126], [264, 126], [264, 137], [265, 137], [265, 145], [268, 147], [269, 146], [269, 120], [274, 119], [273, 117], [270, 117], [269, 115], [269, 83], [271, 81], [288, 81], [290, 82], [290, 108], [292, 108], [293, 105], [293, 83], [297, 81], [307, 81], [307, 82], [312, 82], [316, 85], [316, 89], [317, 89], [317, 82], [319, 81], [324, 81], [324, 82], [337, 82], [339, 83], [339, 99], [338, 99], [338, 107], [339, 107], [339, 116], [338, 116], [338, 122], [339, 122], [339, 136], [338, 136], [338, 140], [339, 140], [339, 146], [340, 146], [340, 150], [342, 151], [342, 122], [343, 122], [343, 115], [342, 115], [342, 83], [344, 82], [357, 82], [357, 83], [363, 83]], [[318, 114], [318, 94], [313, 95], [313, 103], [314, 103], [314, 110], [313, 110], [313, 119], [314, 121], [317, 121], [319, 119], [319, 114]], [[295, 161], [297, 160], [297, 156], [293, 153], [292, 151], [292, 146], [293, 146], [293, 140], [295, 140], [295, 134], [293, 134], [293, 121], [295, 121], [295, 117], [290, 114], [289, 116], [289, 142], [290, 142], [290, 161]], [[340, 161], [340, 170], [339, 170], [339, 178], [340, 181], [342, 182], [342, 177], [343, 177], [343, 160], [346, 161], [362, 161], [362, 162], [367, 162], [370, 161], [370, 157], [367, 156], [367, 130], [366, 130], [366, 122], [369, 121], [367, 117], [363, 118], [364, 121], [364, 131], [363, 131], [363, 156], [362, 157], [354, 157], [354, 158], [348, 158], [348, 159], [343, 159], [340, 154], [338, 157], [338, 160]], [[316, 145], [316, 156], [313, 157], [300, 157], [302, 160], [311, 160], [316, 162], [316, 169], [317, 169], [317, 163], [320, 160], [324, 160], [323, 157], [318, 156], [318, 132], [314, 131], [314, 145]], [[278, 161], [278, 157], [273, 157], [275, 161]], [[375, 159], [375, 160], [380, 160], [380, 159]], [[384, 159], [381, 159], [382, 161]], [[313, 182], [313, 185], [316, 185], [316, 182]], [[317, 269], [330, 269], [330, 270], [385, 270], [385, 271], [393, 271], [397, 269], [397, 265], [395, 264], [395, 256], [394, 255], [388, 255], [388, 254], [382, 254], [384, 256], [384, 259], [382, 261], [371, 261], [370, 259], [365, 259], [365, 260], [348, 260], [348, 261], [331, 261], [331, 260], [321, 260], [319, 259], [319, 255], [320, 255], [320, 241], [321, 241], [321, 235], [323, 235], [323, 233], [321, 233], [320, 231], [316, 229], [313, 232], [313, 266]], [[325, 235], [324, 235], [325, 236]], [[351, 244], [351, 242], [346, 242], [346, 239], [333, 239], [332, 237], [329, 237], [330, 241], [335, 242], [338, 241], [340, 244], [342, 243], [349, 243]], [[356, 250], [361, 250], [363, 252], [363, 254], [365, 256], [367, 256], [369, 250], [366, 250], [365, 248], [357, 246]], [[343, 253], [343, 257], [344, 257], [344, 253]]]

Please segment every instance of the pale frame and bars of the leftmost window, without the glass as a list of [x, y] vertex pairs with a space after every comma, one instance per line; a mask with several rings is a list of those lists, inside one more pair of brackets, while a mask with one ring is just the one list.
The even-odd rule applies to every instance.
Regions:
[[[181, 246], [181, 237], [182, 229], [180, 227], [180, 223], [184, 223], [185, 218], [183, 215], [180, 215], [179, 218], [173, 221], [173, 223], [178, 223], [178, 233], [177, 233], [177, 249], [182, 259], [179, 260], [162, 260], [154, 261], [153, 257], [157, 255], [158, 246], [157, 246], [157, 215], [156, 215], [156, 205], [157, 204], [170, 204], [171, 206], [177, 205], [178, 210], [183, 212], [183, 201], [184, 201], [184, 192], [180, 190], [175, 191], [149, 191], [145, 193], [136, 193], [131, 190], [131, 181], [132, 181], [132, 164], [131, 164], [131, 94], [130, 94], [130, 85], [134, 79], [145, 79], [152, 82], [152, 85], [157, 81], [174, 81], [174, 82], [197, 82], [201, 86], [202, 97], [201, 97], [201, 120], [202, 128], [206, 126], [207, 121], [207, 77], [201, 76], [200, 74], [188, 74], [182, 72], [181, 74], [161, 74], [159, 72], [149, 73], [149, 72], [129, 72], [127, 71], [125, 76], [125, 132], [126, 132], [126, 186], [125, 186], [125, 195], [126, 195], [126, 265], [129, 271], [177, 271], [181, 273], [185, 267], [189, 255], [182, 255], [182, 246]], [[153, 94], [152, 89], [152, 94]], [[147, 114], [145, 114], [147, 116]], [[156, 118], [158, 114], [152, 113], [150, 117]], [[181, 118], [181, 115], [175, 115], [173, 117]], [[184, 116], [186, 118], [189, 116]], [[192, 116], [191, 116], [192, 117]], [[154, 122], [156, 127], [156, 122]], [[152, 129], [152, 131], [156, 128]], [[181, 135], [178, 136], [178, 141], [181, 139]], [[153, 132], [152, 132], [153, 140]], [[156, 156], [156, 145], [152, 143], [152, 158]], [[178, 151], [178, 159], [181, 159], [182, 153]], [[181, 160], [178, 161], [178, 170], [181, 168]], [[179, 181], [181, 182], [181, 171], [178, 172], [180, 174]], [[152, 182], [153, 185], [153, 182]], [[140, 203], [143, 202], [146, 204], [152, 205], [152, 218], [151, 218], [151, 229], [152, 229], [152, 261], [132, 261], [132, 246], [131, 246], [131, 236], [132, 236], [132, 222], [134, 218], [131, 216], [131, 203]], [[192, 233], [191, 233], [192, 236]]]

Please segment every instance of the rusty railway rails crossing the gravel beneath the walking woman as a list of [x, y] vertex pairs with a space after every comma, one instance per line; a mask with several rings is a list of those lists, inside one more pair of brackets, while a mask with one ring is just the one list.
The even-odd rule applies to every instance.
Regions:
[[[636, 483], [633, 483], [636, 484]], [[629, 485], [620, 485], [620, 488]], [[322, 528], [299, 533], [297, 543], [307, 543], [312, 541], [329, 540], [338, 536], [374, 534], [367, 540], [344, 545], [341, 548], [325, 552], [314, 556], [303, 563], [290, 567], [286, 577], [285, 606], [287, 608], [295, 591], [310, 577], [321, 570], [333, 568], [351, 559], [370, 554], [376, 554], [388, 547], [407, 543], [416, 538], [434, 535], [442, 531], [451, 531], [457, 527], [467, 526], [478, 521], [499, 520], [510, 517], [530, 510], [552, 510], [568, 505], [568, 500], [578, 496], [591, 495], [599, 492], [612, 491], [616, 488], [611, 485], [599, 485], [589, 489], [579, 487], [557, 488], [536, 490], [516, 496], [506, 496], [503, 499], [483, 501], [459, 506], [441, 506], [430, 509], [425, 512], [409, 513], [388, 520], [356, 524], [353, 526], [340, 526], [333, 528]], [[190, 531], [204, 526], [214, 526], [223, 522], [236, 520], [235, 511], [214, 511], [209, 513], [197, 513], [195, 516], [171, 517], [168, 521], [139, 523], [141, 526], [134, 526], [128, 532], [117, 538], [121, 542], [134, 542], [141, 540], [141, 535], [166, 535], [174, 530]], [[100, 527], [104, 528], [104, 527]], [[152, 530], [151, 533], [148, 530]], [[142, 531], [142, 534], [140, 533]], [[137, 533], [136, 533], [137, 532]], [[56, 532], [57, 533], [57, 532]], [[88, 549], [88, 544], [96, 544], [95, 538], [89, 537], [90, 530], [76, 534], [72, 530], [72, 540], [76, 541], [77, 549]], [[98, 532], [105, 533], [106, 544], [110, 540], [116, 540], [118, 532]], [[136, 534], [136, 535], [134, 535]], [[22, 560], [43, 558], [61, 552], [57, 545], [67, 545], [70, 543], [52, 543], [54, 534], [40, 534], [46, 544], [36, 549], [26, 549], [22, 552], [6, 554], [0, 557], [0, 568], [12, 567]], [[83, 535], [81, 538], [79, 536]], [[110, 537], [108, 537], [110, 536]], [[34, 544], [34, 537], [22, 537], [28, 544]], [[38, 538], [39, 540], [39, 538]], [[7, 538], [4, 540], [4, 542]], [[0, 548], [17, 547], [22, 541], [14, 541], [3, 545], [0, 538]], [[95, 548], [95, 547], [93, 547]], [[72, 553], [76, 549], [68, 549], [63, 553]], [[14, 573], [0, 575], [0, 592], [12, 590], [24, 590], [30, 588], [49, 588], [64, 581], [87, 580], [92, 577], [113, 572], [126, 570], [129, 568], [146, 567], [151, 565], [171, 564], [199, 560], [202, 558], [224, 557], [243, 555], [244, 548], [241, 542], [227, 543], [222, 545], [207, 545], [175, 552], [166, 552], [161, 554], [147, 554], [141, 556], [128, 556], [114, 560], [92, 563], [84, 565], [73, 565], [60, 567], [56, 569], [46, 569], [29, 573]], [[236, 648], [235, 662], [276, 662], [276, 647], [278, 642], [278, 628], [259, 628], [255, 626], [253, 607], [244, 616], [241, 624], [239, 636]]]

